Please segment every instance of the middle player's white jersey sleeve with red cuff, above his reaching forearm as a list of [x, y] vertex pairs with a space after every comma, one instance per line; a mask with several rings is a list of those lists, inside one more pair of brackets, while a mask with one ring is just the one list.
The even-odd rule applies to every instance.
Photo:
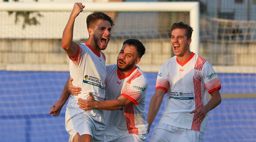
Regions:
[[121, 95], [131, 100], [134, 105], [137, 106], [142, 96], [146, 94], [147, 89], [148, 83], [146, 79], [143, 77], [137, 77]]

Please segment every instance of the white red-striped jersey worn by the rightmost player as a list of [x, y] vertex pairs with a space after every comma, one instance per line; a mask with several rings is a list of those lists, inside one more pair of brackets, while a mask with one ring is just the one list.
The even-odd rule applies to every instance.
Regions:
[[206, 95], [221, 88], [218, 76], [210, 63], [192, 53], [183, 63], [174, 56], [167, 60], [157, 75], [156, 89], [167, 92], [165, 110], [159, 123], [204, 133], [208, 114], [203, 122], [193, 122], [196, 108], [207, 104]]

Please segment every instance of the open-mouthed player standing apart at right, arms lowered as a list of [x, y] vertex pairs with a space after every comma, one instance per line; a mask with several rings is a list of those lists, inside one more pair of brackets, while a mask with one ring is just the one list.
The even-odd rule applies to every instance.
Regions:
[[[158, 72], [156, 90], [149, 104], [148, 132], [167, 93], [165, 110], [150, 142], [200, 142], [207, 113], [221, 103], [221, 83], [210, 63], [190, 51], [192, 27], [174, 23], [171, 31], [175, 56]], [[208, 103], [207, 92], [212, 96]]]

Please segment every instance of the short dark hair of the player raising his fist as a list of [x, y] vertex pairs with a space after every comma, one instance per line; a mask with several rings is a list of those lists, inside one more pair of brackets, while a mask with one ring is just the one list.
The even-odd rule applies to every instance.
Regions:
[[91, 27], [91, 24], [94, 23], [96, 20], [107, 20], [110, 22], [111, 27], [114, 26], [113, 19], [109, 17], [107, 14], [103, 12], [93, 12], [86, 18], [87, 29], [89, 29], [89, 27]]

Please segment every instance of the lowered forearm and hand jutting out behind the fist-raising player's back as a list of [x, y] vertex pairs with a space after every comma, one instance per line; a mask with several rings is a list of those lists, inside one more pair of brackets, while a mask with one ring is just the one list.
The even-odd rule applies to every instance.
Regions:
[[59, 113], [61, 112], [61, 108], [64, 106], [67, 99], [69, 98], [70, 92], [68, 91], [68, 80], [64, 85], [61, 97], [58, 101], [56, 101], [55, 104], [53, 104], [53, 106], [51, 106], [51, 111], [49, 112], [49, 114], [52, 114], [53, 116], [59, 115]]

